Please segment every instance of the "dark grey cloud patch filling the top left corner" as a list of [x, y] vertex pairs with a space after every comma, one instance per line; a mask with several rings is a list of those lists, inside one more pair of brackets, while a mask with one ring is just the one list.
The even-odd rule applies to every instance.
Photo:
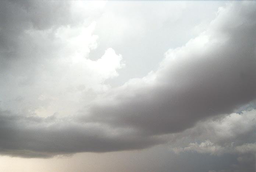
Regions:
[[[64, 4], [60, 1], [49, 1], [49, 3], [45, 1], [1, 1], [1, 57], [17, 56], [19, 36], [26, 29], [47, 29], [54, 25], [68, 24], [67, 16], [70, 15], [67, 14], [68, 5], [68, 3]], [[58, 11], [58, 9], [63, 11]], [[54, 18], [52, 17], [53, 13]]]

